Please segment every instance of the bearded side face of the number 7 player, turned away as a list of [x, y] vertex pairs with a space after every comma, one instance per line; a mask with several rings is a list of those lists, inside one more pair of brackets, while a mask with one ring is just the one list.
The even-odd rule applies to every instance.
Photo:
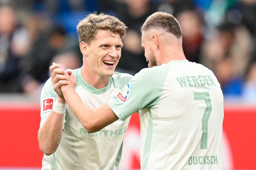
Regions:
[[142, 32], [141, 47], [145, 51], [144, 55], [146, 57], [146, 61], [148, 62], [148, 67], [153, 67], [153, 66], [157, 66], [157, 61], [156, 61], [156, 55], [154, 54], [152, 41], [148, 36], [149, 36], [148, 33]]

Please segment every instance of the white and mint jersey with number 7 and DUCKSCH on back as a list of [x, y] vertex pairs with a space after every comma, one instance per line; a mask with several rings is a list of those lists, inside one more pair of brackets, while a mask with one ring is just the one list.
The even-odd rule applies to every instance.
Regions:
[[108, 104], [122, 120], [140, 110], [142, 170], [222, 169], [223, 94], [205, 66], [144, 68]]

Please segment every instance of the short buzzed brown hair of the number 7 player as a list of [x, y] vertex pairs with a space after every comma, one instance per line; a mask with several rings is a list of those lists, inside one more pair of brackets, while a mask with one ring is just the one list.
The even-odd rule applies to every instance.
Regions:
[[141, 32], [150, 29], [163, 29], [174, 34], [177, 38], [182, 36], [182, 30], [178, 20], [166, 12], [155, 12], [146, 19], [141, 27]]

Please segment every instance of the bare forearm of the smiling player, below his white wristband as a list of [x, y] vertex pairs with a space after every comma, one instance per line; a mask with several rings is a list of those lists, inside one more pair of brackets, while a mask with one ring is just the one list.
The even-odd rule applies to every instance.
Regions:
[[40, 127], [38, 142], [40, 150], [44, 154], [50, 155], [57, 150], [62, 137], [63, 119], [64, 114], [56, 113], [52, 110], [44, 125]]

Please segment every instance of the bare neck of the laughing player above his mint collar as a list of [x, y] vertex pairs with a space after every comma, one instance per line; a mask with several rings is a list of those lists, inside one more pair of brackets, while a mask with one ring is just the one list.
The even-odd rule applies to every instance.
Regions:
[[81, 74], [84, 81], [96, 89], [106, 87], [110, 80], [110, 76], [100, 76], [99, 74], [92, 72], [88, 68], [86, 69], [85, 66], [82, 66]]

